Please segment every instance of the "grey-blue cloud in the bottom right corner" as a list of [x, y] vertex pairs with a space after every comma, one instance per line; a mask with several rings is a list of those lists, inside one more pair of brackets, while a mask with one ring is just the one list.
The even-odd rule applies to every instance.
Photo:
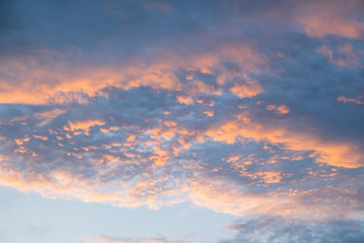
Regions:
[[251, 218], [228, 228], [237, 237], [220, 242], [361, 242], [363, 225], [359, 221], [329, 222], [285, 221], [281, 218]]

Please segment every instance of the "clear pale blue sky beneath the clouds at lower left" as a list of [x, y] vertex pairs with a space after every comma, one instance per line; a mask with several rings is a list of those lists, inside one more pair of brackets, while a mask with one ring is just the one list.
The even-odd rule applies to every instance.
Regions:
[[49, 199], [0, 187], [0, 242], [81, 243], [87, 237], [187, 239], [229, 238], [225, 226], [237, 217], [189, 203], [158, 210]]

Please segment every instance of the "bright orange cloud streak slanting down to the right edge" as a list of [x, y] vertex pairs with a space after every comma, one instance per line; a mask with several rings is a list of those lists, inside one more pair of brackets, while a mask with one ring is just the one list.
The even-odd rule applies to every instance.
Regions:
[[205, 135], [227, 144], [233, 144], [237, 139], [252, 138], [281, 144], [286, 149], [314, 151], [319, 162], [336, 167], [361, 167], [364, 157], [355, 144], [325, 140], [307, 131], [300, 133], [289, 131], [285, 127], [266, 127], [249, 118], [248, 114], [227, 121], [220, 127], [211, 127]]

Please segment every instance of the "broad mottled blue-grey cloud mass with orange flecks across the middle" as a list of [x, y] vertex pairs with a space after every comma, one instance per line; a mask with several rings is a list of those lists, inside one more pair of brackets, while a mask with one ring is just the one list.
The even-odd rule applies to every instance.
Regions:
[[[129, 208], [190, 201], [238, 216], [328, 218], [332, 208], [347, 216], [361, 210], [360, 187], [351, 186], [361, 154], [345, 157], [352, 147], [267, 126], [244, 107], [224, 113], [230, 103], [219, 105], [219, 98], [244, 100], [229, 93], [214, 97], [214, 116], [204, 114], [213, 103], [186, 106], [167, 90], [103, 93], [52, 108], [3, 105], [3, 114], [14, 115], [2, 125], [1, 184]], [[40, 125], [39, 114], [49, 112], [43, 109], [62, 112]], [[333, 195], [350, 198], [350, 208]]]

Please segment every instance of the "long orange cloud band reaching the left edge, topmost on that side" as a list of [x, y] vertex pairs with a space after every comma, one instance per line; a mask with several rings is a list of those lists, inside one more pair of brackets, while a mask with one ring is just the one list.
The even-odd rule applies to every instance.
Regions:
[[39, 105], [72, 100], [83, 103], [86, 102], [85, 95], [103, 95], [101, 90], [107, 86], [123, 89], [150, 86], [157, 90], [181, 91], [187, 96], [215, 95], [220, 92], [215, 87], [198, 80], [183, 85], [175, 73], [181, 68], [211, 73], [214, 68], [219, 71], [211, 75], [217, 76], [223, 84], [235, 76], [242, 76], [221, 65], [225, 59], [236, 62], [246, 72], [258, 72], [257, 66], [266, 62], [265, 57], [245, 43], [217, 46], [213, 53], [187, 52], [181, 56], [167, 50], [160, 52], [160, 58], [152, 63], [145, 62], [145, 56], [138, 56], [120, 66], [70, 66], [68, 59], [72, 55], [46, 49], [38, 50], [34, 56], [9, 58], [0, 66], [0, 72], [4, 74], [0, 80], [0, 103]]

